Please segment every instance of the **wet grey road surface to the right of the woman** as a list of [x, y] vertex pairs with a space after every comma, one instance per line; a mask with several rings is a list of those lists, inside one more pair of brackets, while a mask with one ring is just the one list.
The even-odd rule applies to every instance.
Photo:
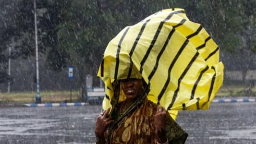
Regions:
[[256, 103], [212, 103], [207, 111], [182, 111], [177, 122], [186, 144], [256, 144]]

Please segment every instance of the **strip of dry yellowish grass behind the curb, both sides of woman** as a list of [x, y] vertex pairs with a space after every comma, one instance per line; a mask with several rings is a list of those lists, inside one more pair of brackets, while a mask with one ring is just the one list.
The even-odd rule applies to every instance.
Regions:
[[[44, 102], [70, 102], [70, 91], [41, 91], [40, 96], [42, 103]], [[246, 85], [223, 85], [216, 97], [226, 96], [256, 96], [256, 86], [250, 87]], [[36, 92], [12, 92], [1, 93], [0, 99], [2, 103], [18, 102], [31, 103], [35, 102]], [[81, 101], [79, 91], [72, 91], [72, 101]]]

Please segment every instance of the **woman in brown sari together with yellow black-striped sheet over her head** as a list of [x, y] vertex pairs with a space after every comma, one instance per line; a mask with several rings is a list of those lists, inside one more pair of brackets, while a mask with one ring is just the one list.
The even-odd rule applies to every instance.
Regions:
[[97, 143], [183, 144], [187, 134], [164, 108], [208, 109], [223, 68], [217, 44], [183, 9], [161, 10], [126, 26], [99, 66], [106, 110], [96, 123]]

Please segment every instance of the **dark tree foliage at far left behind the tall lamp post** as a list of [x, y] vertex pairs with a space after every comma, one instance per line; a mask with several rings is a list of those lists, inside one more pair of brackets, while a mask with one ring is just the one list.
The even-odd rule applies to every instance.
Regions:
[[[66, 2], [66, 3], [65, 3]], [[65, 50], [56, 49], [58, 44], [57, 25], [61, 23], [59, 11], [68, 5], [68, 0], [37, 0], [38, 17], [38, 51], [48, 54], [51, 59], [49, 66], [53, 70], [60, 70], [66, 66], [69, 55]], [[6, 49], [14, 40], [11, 58], [35, 56], [35, 23], [34, 0], [0, 0], [0, 82], [6, 79], [6, 66], [9, 56]]]

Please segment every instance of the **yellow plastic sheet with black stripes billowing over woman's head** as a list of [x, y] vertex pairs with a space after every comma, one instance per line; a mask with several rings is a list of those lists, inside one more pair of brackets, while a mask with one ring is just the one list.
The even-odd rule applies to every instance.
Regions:
[[[183, 9], [156, 12], [125, 27], [108, 44], [98, 76], [111, 107], [114, 80], [143, 78], [148, 99], [168, 110], [208, 109], [223, 82], [219, 47]], [[121, 100], [122, 98], [120, 98]]]

